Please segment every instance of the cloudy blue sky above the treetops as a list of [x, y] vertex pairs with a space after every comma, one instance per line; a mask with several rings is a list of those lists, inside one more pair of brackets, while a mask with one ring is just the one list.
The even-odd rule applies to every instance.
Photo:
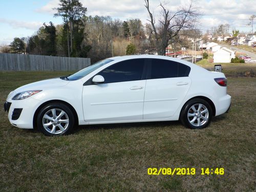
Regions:
[[[190, 0], [150, 0], [151, 11], [160, 16], [162, 2], [171, 13], [181, 6], [189, 5]], [[202, 13], [198, 28], [206, 31], [220, 24], [229, 24], [232, 29], [251, 32], [249, 17], [256, 15], [256, 0], [193, 0], [195, 8]], [[80, 0], [87, 7], [87, 15], [111, 16], [120, 20], [140, 18], [148, 23], [148, 13], [144, 0]], [[62, 23], [61, 17], [54, 17], [58, 0], [0, 0], [0, 45], [10, 44], [14, 37], [33, 35], [44, 23]], [[256, 19], [254, 22], [256, 26]], [[254, 27], [254, 31], [256, 27]]]

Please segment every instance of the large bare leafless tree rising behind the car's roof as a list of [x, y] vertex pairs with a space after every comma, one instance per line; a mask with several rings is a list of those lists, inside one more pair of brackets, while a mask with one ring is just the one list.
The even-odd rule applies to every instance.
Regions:
[[195, 24], [197, 23], [197, 18], [200, 16], [200, 13], [194, 9], [193, 1], [190, 2], [187, 8], [181, 7], [176, 13], [171, 13], [160, 3], [159, 6], [162, 8], [162, 18], [159, 19], [158, 26], [150, 10], [149, 0], [144, 1], [147, 12], [150, 15], [148, 21], [153, 28], [152, 35], [156, 41], [158, 55], [165, 55], [168, 44], [172, 44], [177, 40], [176, 37], [179, 36], [181, 29], [195, 29]]

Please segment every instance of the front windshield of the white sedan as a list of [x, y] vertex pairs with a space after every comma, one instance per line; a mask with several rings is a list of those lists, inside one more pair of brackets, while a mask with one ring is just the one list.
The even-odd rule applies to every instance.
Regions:
[[89, 73], [93, 72], [94, 70], [100, 68], [101, 66], [106, 65], [106, 63], [109, 63], [113, 61], [112, 59], [104, 59], [100, 60], [98, 62], [95, 62], [93, 65], [88, 66], [86, 68], [83, 68], [82, 70], [74, 73], [73, 75], [68, 76], [68, 80], [77, 80], [84, 76], [87, 76]]

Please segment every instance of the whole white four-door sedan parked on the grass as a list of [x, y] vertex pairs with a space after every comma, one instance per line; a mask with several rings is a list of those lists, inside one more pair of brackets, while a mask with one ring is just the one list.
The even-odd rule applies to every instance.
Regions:
[[112, 57], [73, 75], [12, 91], [5, 103], [12, 125], [66, 135], [76, 125], [180, 120], [206, 127], [228, 111], [223, 73], [156, 55]]

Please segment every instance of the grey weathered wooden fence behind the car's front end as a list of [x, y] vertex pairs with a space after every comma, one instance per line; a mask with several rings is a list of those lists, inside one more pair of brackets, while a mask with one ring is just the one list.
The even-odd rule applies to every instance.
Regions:
[[90, 58], [0, 53], [0, 71], [78, 71]]

